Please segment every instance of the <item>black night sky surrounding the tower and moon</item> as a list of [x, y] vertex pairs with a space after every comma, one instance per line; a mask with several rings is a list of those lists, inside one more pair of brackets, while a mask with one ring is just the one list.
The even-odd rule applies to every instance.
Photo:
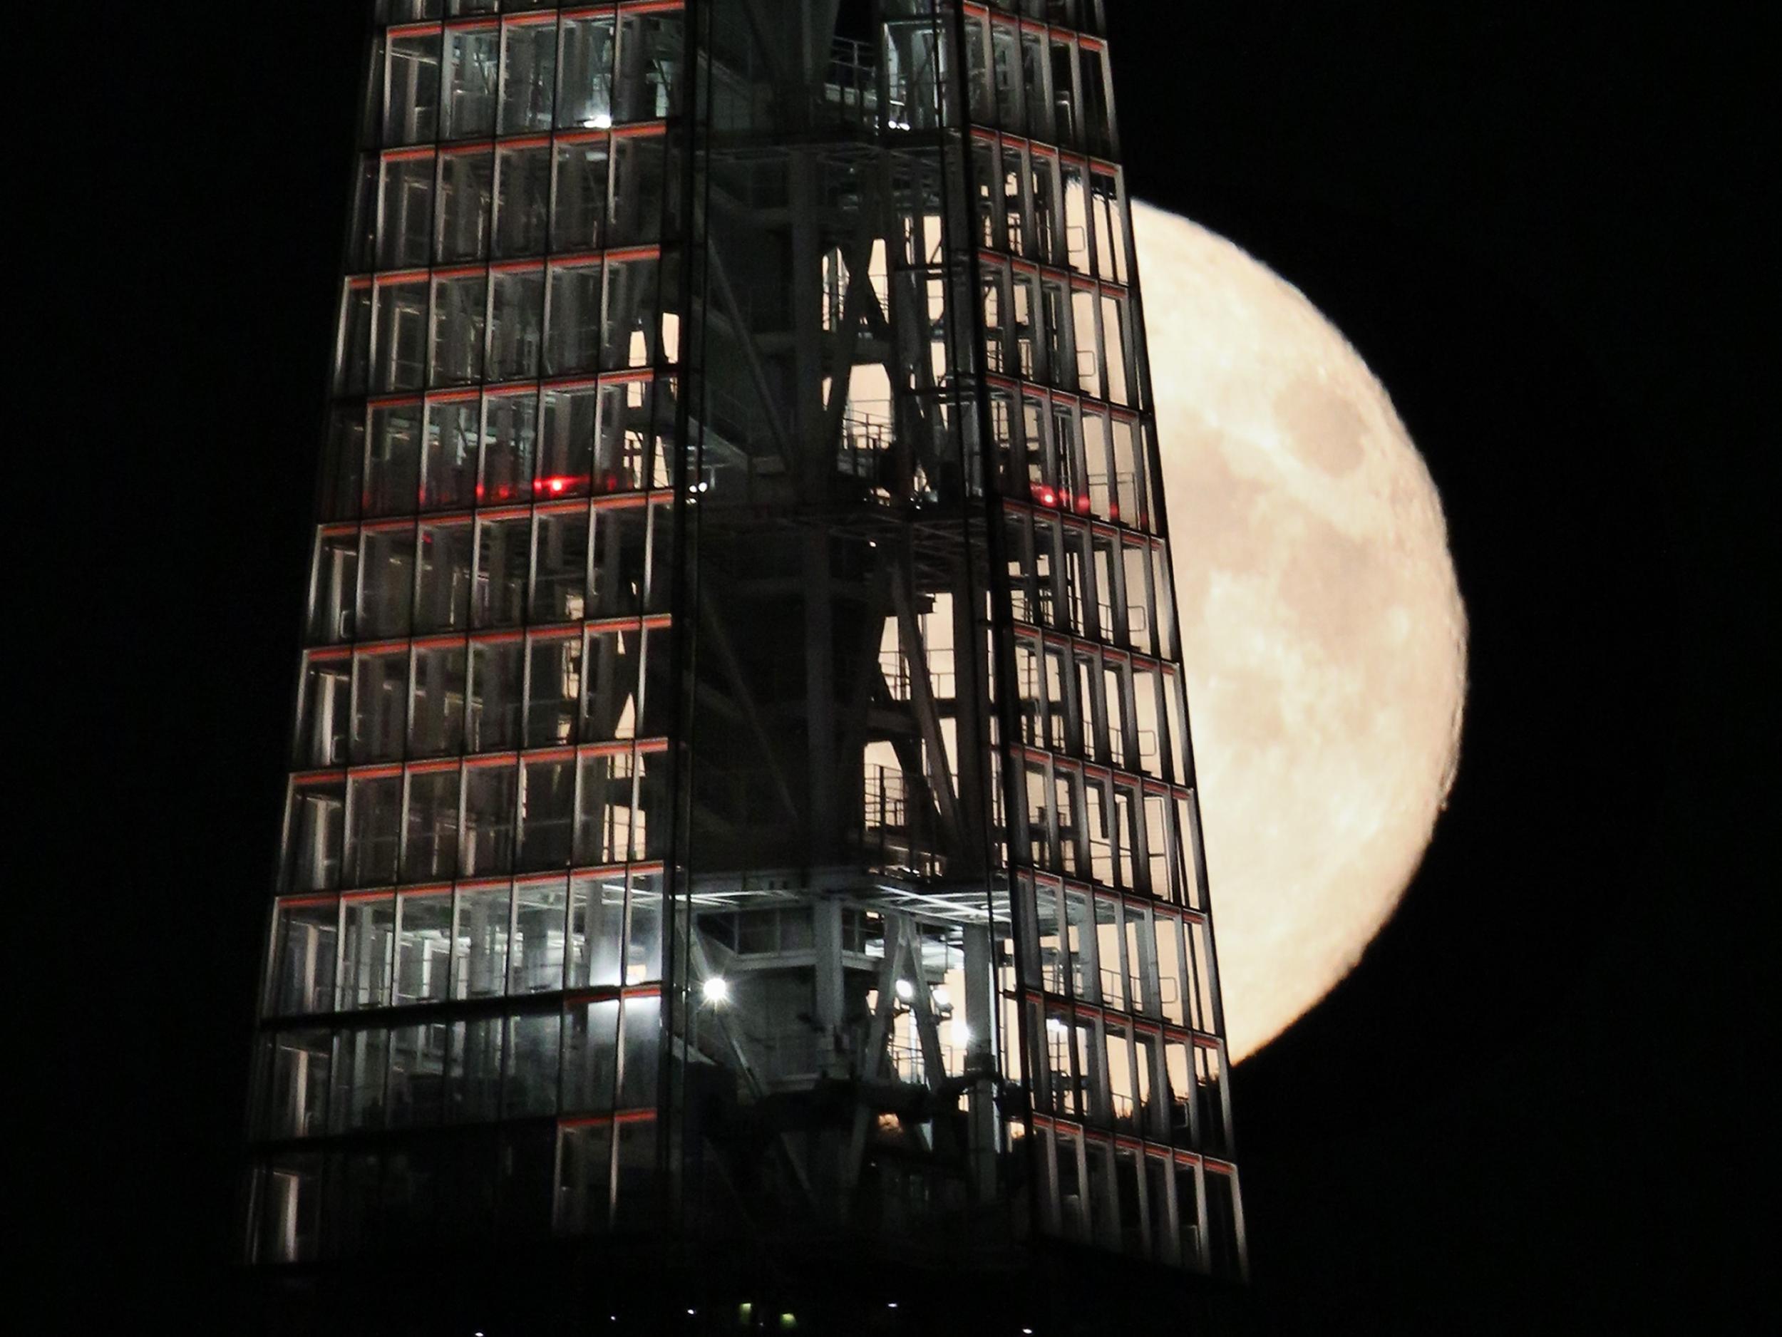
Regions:
[[[1402, 909], [1237, 1071], [1255, 1330], [1755, 1332], [1775, 968], [1752, 923], [1777, 879], [1736, 850], [1775, 783], [1759, 715], [1725, 715], [1775, 592], [1736, 510], [1752, 439], [1709, 380], [1755, 298], [1741, 196], [1773, 178], [1755, 41], [1631, 5], [1112, 7], [1132, 191], [1360, 349], [1442, 490], [1470, 619], [1459, 779]], [[52, 1071], [91, 1087], [52, 1162], [57, 1296], [203, 1330], [362, 27], [346, 0], [176, 9], [84, 48], [109, 93], [48, 178], [48, 235], [80, 251], [45, 358], [59, 439], [114, 492], [36, 570], [82, 645], [53, 667], [78, 692], [57, 756], [86, 763], [57, 781], [80, 799], [45, 827], [48, 886], [102, 906], [103, 961], [55, 975], [48, 1013]], [[87, 565], [91, 603], [50, 578]]]

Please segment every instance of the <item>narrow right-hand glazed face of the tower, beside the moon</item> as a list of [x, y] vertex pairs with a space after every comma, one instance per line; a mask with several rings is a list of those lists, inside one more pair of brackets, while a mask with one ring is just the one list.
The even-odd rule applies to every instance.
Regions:
[[[1016, 617], [1001, 980], [1042, 1225], [1242, 1273], [1228, 1061], [1099, 5], [962, 5], [982, 367]], [[1078, 27], [1080, 25], [1080, 27]], [[1032, 872], [1021, 872], [1023, 868]]]

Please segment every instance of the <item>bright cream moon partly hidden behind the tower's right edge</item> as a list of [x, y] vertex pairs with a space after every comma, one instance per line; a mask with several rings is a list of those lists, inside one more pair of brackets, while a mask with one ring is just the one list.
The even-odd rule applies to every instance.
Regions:
[[1226, 1039], [1361, 959], [1459, 759], [1467, 611], [1385, 389], [1290, 283], [1133, 205]]

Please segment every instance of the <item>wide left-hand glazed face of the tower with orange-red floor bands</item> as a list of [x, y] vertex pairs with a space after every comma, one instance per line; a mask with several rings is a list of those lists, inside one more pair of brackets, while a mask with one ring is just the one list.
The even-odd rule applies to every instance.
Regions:
[[257, 1050], [262, 1262], [652, 1210], [684, 5], [503, 9], [388, 0], [372, 41]]

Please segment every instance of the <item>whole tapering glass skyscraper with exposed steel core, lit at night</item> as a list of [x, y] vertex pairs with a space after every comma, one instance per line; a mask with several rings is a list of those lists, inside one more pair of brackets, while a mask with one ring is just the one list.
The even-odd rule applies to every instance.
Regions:
[[1238, 1276], [1101, 0], [385, 0], [246, 1257]]

